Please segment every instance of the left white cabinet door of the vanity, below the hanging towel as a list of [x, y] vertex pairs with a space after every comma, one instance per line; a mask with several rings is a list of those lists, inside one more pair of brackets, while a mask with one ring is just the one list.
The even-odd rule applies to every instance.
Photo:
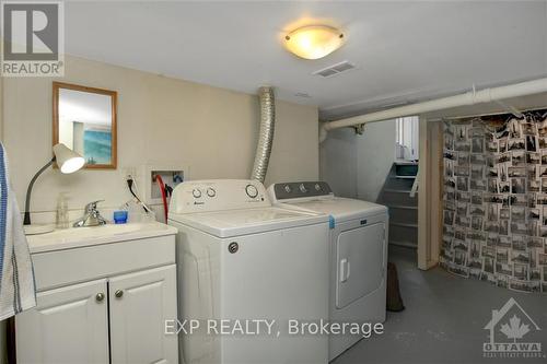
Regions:
[[15, 317], [18, 363], [108, 363], [106, 280], [40, 292]]

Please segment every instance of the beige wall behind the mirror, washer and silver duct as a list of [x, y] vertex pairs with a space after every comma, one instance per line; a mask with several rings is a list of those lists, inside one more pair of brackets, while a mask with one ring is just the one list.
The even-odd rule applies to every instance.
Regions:
[[[21, 207], [28, 180], [51, 155], [51, 81], [3, 82], [3, 140]], [[126, 168], [143, 164], [188, 165], [190, 179], [249, 176], [259, 119], [255, 95], [74, 57], [66, 58], [66, 77], [59, 81], [118, 92], [118, 169], [73, 175], [48, 169], [35, 185], [33, 211], [55, 210], [59, 191], [69, 191], [70, 209], [93, 199], [117, 208], [129, 199]], [[317, 108], [278, 101], [276, 113], [266, 185], [316, 179]]]

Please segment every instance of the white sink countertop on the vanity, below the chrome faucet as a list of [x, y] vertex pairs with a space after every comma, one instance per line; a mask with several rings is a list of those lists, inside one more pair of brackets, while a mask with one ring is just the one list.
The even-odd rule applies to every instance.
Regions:
[[172, 234], [176, 234], [176, 228], [148, 222], [55, 230], [47, 234], [28, 235], [26, 239], [31, 253], [34, 254]]

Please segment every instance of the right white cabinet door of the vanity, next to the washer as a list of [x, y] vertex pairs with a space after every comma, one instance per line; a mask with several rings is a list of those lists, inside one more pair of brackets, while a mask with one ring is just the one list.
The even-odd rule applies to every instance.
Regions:
[[165, 334], [176, 319], [175, 265], [109, 280], [112, 363], [178, 362], [177, 336]]

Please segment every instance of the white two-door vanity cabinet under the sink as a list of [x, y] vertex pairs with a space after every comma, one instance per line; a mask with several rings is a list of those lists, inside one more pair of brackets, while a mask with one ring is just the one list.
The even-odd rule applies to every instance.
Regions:
[[30, 237], [37, 307], [15, 317], [18, 364], [176, 364], [164, 333], [177, 317], [175, 236], [162, 233], [35, 253]]

